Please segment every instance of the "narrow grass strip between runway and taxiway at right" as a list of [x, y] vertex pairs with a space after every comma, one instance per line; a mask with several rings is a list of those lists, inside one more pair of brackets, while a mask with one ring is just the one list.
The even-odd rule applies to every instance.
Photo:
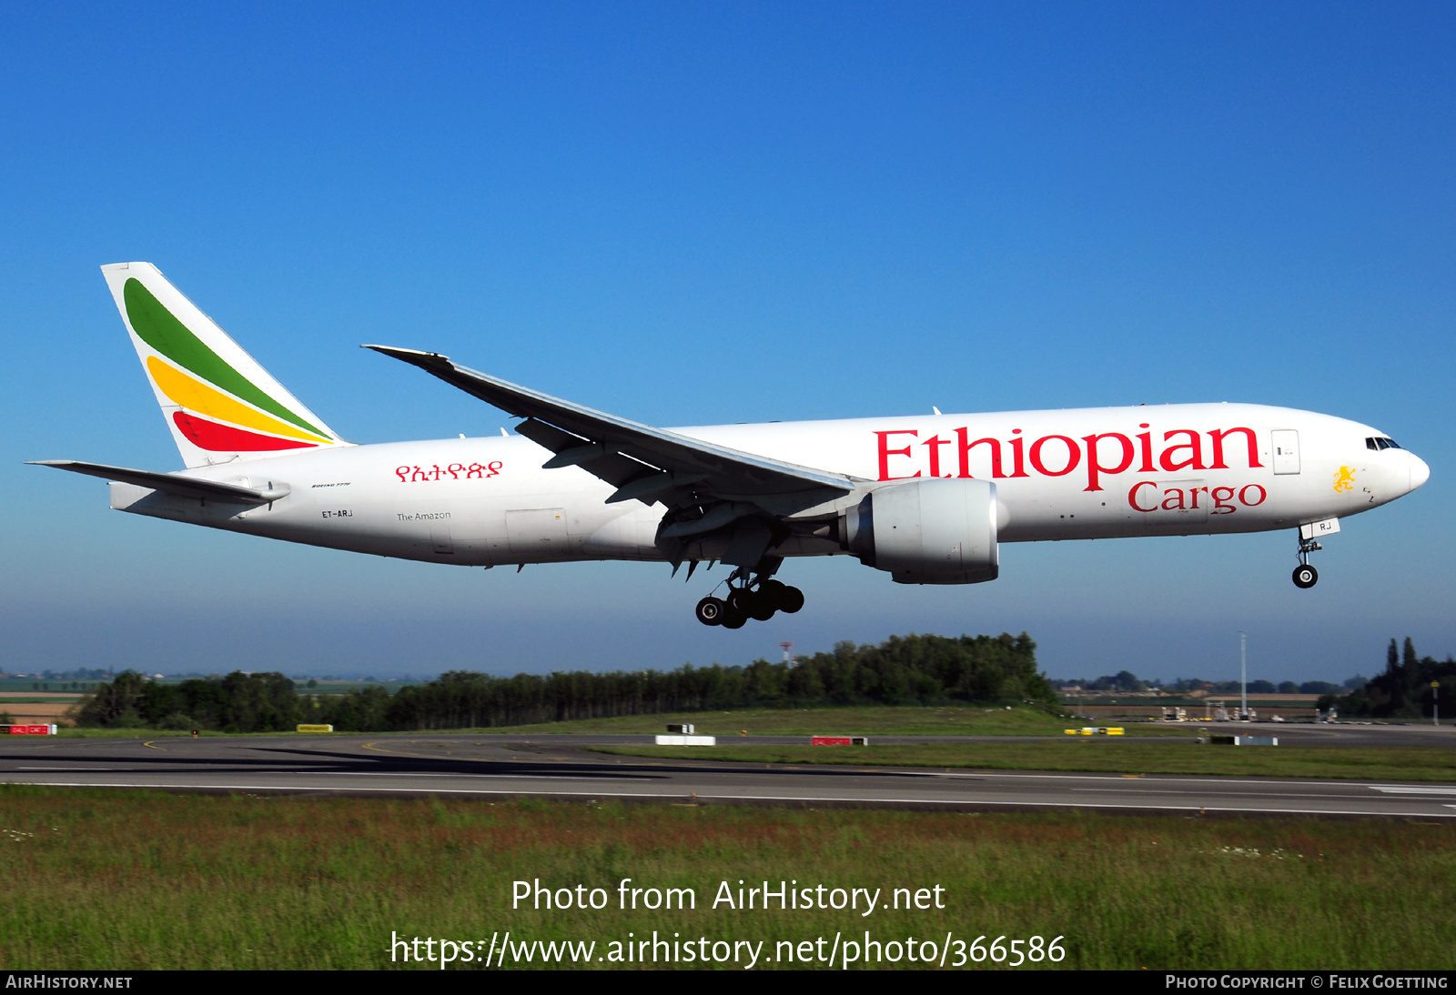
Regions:
[[837, 764], [850, 767], [968, 767], [1012, 771], [1105, 771], [1115, 774], [1229, 774], [1456, 783], [1456, 751], [1447, 746], [1222, 746], [1127, 739], [1026, 743], [933, 743], [914, 746], [594, 746], [601, 754], [744, 764]]

